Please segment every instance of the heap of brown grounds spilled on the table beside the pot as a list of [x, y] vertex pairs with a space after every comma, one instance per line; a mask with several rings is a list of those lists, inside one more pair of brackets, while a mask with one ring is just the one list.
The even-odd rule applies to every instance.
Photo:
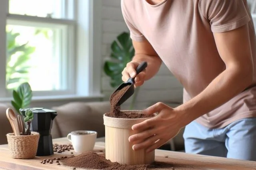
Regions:
[[128, 165], [119, 164], [118, 162], [111, 162], [107, 160], [104, 154], [97, 154], [96, 152], [83, 152], [72, 158], [65, 158], [62, 160], [64, 166], [71, 166], [76, 168], [89, 168], [100, 170], [145, 170], [148, 165]]

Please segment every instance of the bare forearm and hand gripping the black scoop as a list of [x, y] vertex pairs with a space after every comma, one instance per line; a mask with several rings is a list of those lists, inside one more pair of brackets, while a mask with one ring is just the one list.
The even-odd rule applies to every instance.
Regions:
[[152, 78], [159, 70], [162, 60], [157, 55], [152, 45], [145, 39], [144, 41], [132, 41], [135, 55], [131, 62], [127, 63], [122, 71], [122, 80], [126, 82], [128, 78], [136, 75], [135, 68], [142, 62], [147, 61], [148, 66], [135, 78], [135, 86], [141, 86], [145, 80]]

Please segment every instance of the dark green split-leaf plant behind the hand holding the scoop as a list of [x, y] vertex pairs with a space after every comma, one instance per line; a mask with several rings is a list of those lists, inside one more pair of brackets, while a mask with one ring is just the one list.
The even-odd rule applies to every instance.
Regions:
[[[113, 88], [122, 84], [122, 70], [126, 67], [126, 64], [132, 60], [134, 56], [134, 48], [132, 46], [132, 39], [130, 34], [123, 32], [117, 36], [111, 44], [110, 60], [104, 63], [104, 72], [110, 79], [110, 86]], [[139, 87], [135, 88], [134, 96], [130, 109], [133, 109], [134, 103], [137, 98]]]

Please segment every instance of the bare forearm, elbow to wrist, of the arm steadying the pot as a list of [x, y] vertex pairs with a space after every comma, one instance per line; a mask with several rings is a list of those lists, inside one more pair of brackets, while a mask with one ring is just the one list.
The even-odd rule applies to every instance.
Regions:
[[252, 70], [226, 69], [200, 94], [176, 107], [187, 115], [186, 124], [228, 102], [252, 83]]

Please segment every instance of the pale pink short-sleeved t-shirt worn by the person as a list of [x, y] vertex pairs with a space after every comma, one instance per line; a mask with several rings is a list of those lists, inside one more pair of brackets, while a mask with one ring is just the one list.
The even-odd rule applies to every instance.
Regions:
[[[256, 36], [246, 0], [164, 0], [157, 5], [147, 0], [122, 0], [121, 6], [130, 37], [150, 42], [184, 86], [184, 102], [202, 92], [225, 69], [213, 33], [248, 24], [256, 68]], [[253, 84], [196, 121], [221, 128], [238, 119], [256, 117], [256, 76]]]

